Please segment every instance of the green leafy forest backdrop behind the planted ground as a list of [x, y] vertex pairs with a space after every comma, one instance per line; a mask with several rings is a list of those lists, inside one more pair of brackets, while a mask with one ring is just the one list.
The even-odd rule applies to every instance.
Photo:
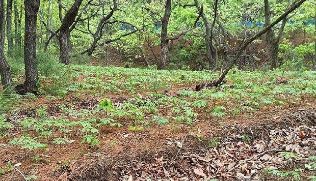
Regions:
[[[37, 62], [39, 71], [45, 71], [43, 67], [46, 73], [51, 71], [47, 64], [61, 62], [220, 70], [219, 77], [233, 65], [240, 70], [316, 66], [311, 0], [49, 0], [31, 1], [30, 12], [27, 5], [28, 1], [1, 1], [2, 48], [14, 76], [23, 74], [25, 50], [35, 49], [38, 61], [25, 60], [29, 76], [36, 72], [32, 64]], [[36, 32], [30, 32], [30, 39], [27, 28]], [[33, 44], [34, 50], [23, 44]], [[34, 78], [38, 79], [30, 79]]]

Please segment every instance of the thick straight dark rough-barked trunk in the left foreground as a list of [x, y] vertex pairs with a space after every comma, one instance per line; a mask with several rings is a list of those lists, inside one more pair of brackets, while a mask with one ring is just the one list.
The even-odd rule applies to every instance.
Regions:
[[38, 72], [36, 60], [36, 25], [40, 0], [24, 0], [25, 7], [25, 36], [24, 64], [26, 93], [36, 93]]

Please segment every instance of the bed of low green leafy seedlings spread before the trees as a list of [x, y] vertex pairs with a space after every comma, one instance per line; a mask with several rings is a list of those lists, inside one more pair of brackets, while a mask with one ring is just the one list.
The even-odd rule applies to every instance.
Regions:
[[[41, 75], [43, 81], [37, 90], [38, 96], [29, 93], [2, 98], [11, 101], [8, 105], [22, 110], [14, 111], [18, 116], [4, 113], [1, 117], [1, 135], [5, 143], [2, 146], [14, 150], [9, 151], [10, 157], [22, 163], [47, 164], [49, 158], [45, 155], [59, 152], [62, 147], [78, 152], [78, 155], [72, 153], [72, 159], [79, 155], [102, 154], [115, 147], [120, 139], [111, 138], [109, 132], [125, 132], [123, 137], [130, 137], [131, 144], [136, 147], [141, 147], [143, 135], [148, 134], [159, 141], [176, 140], [185, 127], [189, 129], [188, 134], [203, 141], [206, 135], [200, 130], [202, 123], [220, 126], [225, 119], [236, 116], [252, 119], [258, 111], [282, 110], [284, 106], [313, 100], [316, 95], [316, 73], [313, 71], [233, 69], [227, 82], [219, 88], [196, 92], [196, 83], [210, 80], [216, 74], [207, 70], [160, 71], [82, 65], [67, 69], [71, 74], [61, 75], [70, 78], [71, 83], [59, 89], [55, 83], [46, 83], [46, 79], [54, 81], [54, 77]], [[27, 103], [32, 104], [23, 109]], [[112, 140], [110, 144], [108, 139]], [[252, 141], [247, 135], [243, 140]], [[219, 140], [210, 141], [209, 146], [217, 142]], [[286, 160], [300, 157], [291, 152], [278, 154]], [[314, 170], [314, 162], [305, 166], [287, 172], [272, 170], [271, 174], [298, 179], [303, 170]], [[6, 167], [3, 164], [3, 174], [12, 170]]]

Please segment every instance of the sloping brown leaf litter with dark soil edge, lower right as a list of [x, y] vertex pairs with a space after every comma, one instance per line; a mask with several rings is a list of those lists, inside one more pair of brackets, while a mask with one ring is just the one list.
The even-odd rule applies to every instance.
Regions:
[[[266, 123], [265, 128], [260, 124], [223, 127], [225, 129], [222, 128], [217, 135], [220, 140], [212, 145], [209, 143], [214, 142], [214, 138], [199, 141], [194, 135], [186, 135], [175, 141], [175, 144], [167, 141], [168, 149], [163, 152], [140, 153], [139, 157], [122, 156], [102, 163], [81, 165], [77, 169], [66, 170], [64, 173], [69, 176], [61, 174], [60, 178], [128, 181], [279, 180], [273, 175], [267, 177], [267, 172], [294, 169], [304, 165], [307, 157], [316, 155], [316, 114], [313, 110], [298, 110], [279, 122]], [[262, 133], [262, 130], [265, 132]], [[244, 133], [249, 133], [249, 136]], [[177, 146], [177, 143], [181, 146]], [[293, 153], [297, 157], [286, 159], [280, 154], [283, 152]], [[302, 174], [303, 179], [306, 178], [304, 175], [308, 174]]]

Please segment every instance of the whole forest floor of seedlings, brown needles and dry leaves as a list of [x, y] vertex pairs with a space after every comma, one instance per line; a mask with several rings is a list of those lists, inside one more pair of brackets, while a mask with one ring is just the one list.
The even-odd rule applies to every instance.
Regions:
[[[28, 95], [5, 114], [13, 127], [0, 138], [0, 180], [31, 180], [31, 175], [39, 180], [315, 179], [315, 73], [288, 73], [279, 84], [277, 74], [271, 79], [266, 73], [239, 72], [230, 74], [223, 88], [195, 92], [197, 83], [214, 75], [121, 68], [111, 72], [92, 66], [73, 70], [77, 73], [66, 93]], [[296, 79], [301, 80], [291, 81]], [[253, 87], [263, 87], [264, 93]], [[277, 87], [295, 87], [297, 92], [273, 92]], [[135, 124], [128, 116], [99, 110], [104, 98], [114, 104], [112, 113], [144, 114]], [[125, 110], [129, 103], [137, 108]], [[158, 126], [152, 121], [155, 115], [169, 122]], [[184, 119], [175, 118], [179, 115]], [[122, 127], [96, 126], [109, 117]], [[88, 134], [84, 126], [39, 126], [60, 118], [62, 124], [89, 122], [89, 134], [97, 135], [100, 143], [82, 143]], [[131, 130], [133, 126], [142, 129]], [[48, 149], [25, 151], [9, 143], [22, 136], [36, 138]], [[72, 141], [53, 143], [65, 137]]]

